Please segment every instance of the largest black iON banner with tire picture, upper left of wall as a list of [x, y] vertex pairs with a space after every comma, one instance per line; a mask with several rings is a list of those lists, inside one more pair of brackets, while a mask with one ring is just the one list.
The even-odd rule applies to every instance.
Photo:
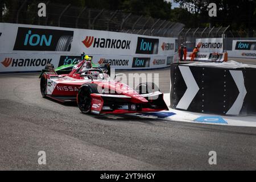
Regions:
[[70, 51], [73, 31], [18, 27], [14, 51]]

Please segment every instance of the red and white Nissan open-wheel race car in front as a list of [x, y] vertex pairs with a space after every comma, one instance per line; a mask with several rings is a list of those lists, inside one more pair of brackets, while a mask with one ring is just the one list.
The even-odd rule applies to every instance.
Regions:
[[142, 113], [168, 110], [163, 93], [153, 83], [128, 85], [110, 78], [101, 68], [88, 68], [83, 60], [68, 75], [58, 75], [53, 68], [40, 80], [43, 97], [60, 102], [76, 101], [82, 113]]

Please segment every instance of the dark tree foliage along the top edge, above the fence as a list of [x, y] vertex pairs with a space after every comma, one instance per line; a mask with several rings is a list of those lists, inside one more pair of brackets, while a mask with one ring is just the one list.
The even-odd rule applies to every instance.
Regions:
[[[16, 13], [24, 0], [0, 0], [0, 20], [15, 22]], [[48, 0], [27, 0], [24, 7], [29, 11], [38, 2]], [[170, 1], [164, 0], [51, 0], [51, 3], [88, 7], [92, 9], [122, 10], [137, 15], [184, 23], [186, 27], [207, 25], [229, 26], [233, 30], [256, 29], [256, 0], [175, 0], [180, 7], [171, 9]], [[216, 3], [217, 17], [209, 17], [209, 3]], [[4, 17], [2, 17], [4, 14]], [[26, 21], [27, 13], [20, 15]]]

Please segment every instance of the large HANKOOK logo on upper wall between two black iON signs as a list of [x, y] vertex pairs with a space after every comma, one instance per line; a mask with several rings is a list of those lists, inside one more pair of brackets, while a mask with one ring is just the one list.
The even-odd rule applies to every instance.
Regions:
[[131, 40], [105, 39], [86, 36], [86, 38], [82, 40], [82, 43], [87, 48], [93, 46], [93, 48], [130, 49]]

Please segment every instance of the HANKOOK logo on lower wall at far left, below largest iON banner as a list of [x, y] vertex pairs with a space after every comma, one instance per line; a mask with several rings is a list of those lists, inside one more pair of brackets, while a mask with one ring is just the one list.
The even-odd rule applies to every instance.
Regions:
[[13, 59], [6, 57], [1, 63], [5, 67], [40, 67], [51, 64], [52, 59]]

